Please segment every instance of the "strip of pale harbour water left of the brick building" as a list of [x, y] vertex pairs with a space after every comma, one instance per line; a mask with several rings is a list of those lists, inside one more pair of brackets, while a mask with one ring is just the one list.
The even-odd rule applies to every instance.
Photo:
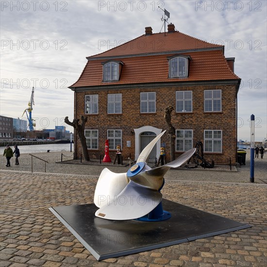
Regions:
[[[14, 146], [11, 146], [14, 150]], [[45, 144], [45, 145], [28, 145], [28, 146], [18, 146], [19, 152], [22, 153], [39, 153], [39, 152], [57, 152], [57, 151], [70, 151], [69, 144]], [[5, 147], [0, 147], [0, 153], [3, 154]], [[74, 145], [71, 146], [72, 152], [74, 151]]]

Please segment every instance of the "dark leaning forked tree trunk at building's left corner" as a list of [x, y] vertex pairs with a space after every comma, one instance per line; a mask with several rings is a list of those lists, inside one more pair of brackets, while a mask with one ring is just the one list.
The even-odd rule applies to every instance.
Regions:
[[78, 133], [79, 139], [81, 141], [81, 145], [82, 145], [82, 153], [83, 153], [83, 158], [86, 161], [90, 161], [89, 158], [89, 154], [88, 154], [88, 150], [87, 150], [87, 144], [86, 144], [86, 138], [84, 136], [84, 128], [85, 128], [85, 124], [87, 121], [87, 117], [81, 117], [82, 118], [82, 123], [79, 124], [80, 119], [73, 119], [72, 122], [70, 122], [68, 120], [68, 117], [65, 117], [65, 123], [67, 123], [68, 125], [72, 126]]

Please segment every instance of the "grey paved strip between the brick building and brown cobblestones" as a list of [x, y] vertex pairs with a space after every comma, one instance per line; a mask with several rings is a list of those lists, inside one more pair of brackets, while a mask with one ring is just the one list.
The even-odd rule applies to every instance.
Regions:
[[[166, 180], [190, 180], [190, 181], [203, 181], [203, 182], [234, 182], [234, 183], [249, 183], [250, 182], [250, 150], [246, 150], [246, 165], [241, 167], [232, 166], [230, 171], [230, 166], [215, 166], [211, 169], [204, 169], [202, 167], [197, 167], [194, 169], [186, 168], [177, 168], [170, 169], [165, 175]], [[79, 164], [80, 161], [71, 160], [73, 157], [72, 152], [63, 152], [63, 161], [61, 162], [62, 152], [44, 152], [44, 153], [33, 153], [34, 156], [47, 161], [45, 163], [40, 159], [32, 157], [29, 154], [21, 154], [19, 157], [19, 165], [15, 165], [15, 159], [11, 160], [11, 167], [6, 167], [6, 158], [0, 155], [0, 169], [2, 170], [19, 170], [19, 171], [31, 171], [33, 172], [51, 172], [51, 173], [67, 173], [67, 174], [82, 174], [82, 175], [96, 175], [99, 176], [103, 168], [108, 167], [111, 171], [114, 172], [127, 172], [129, 168], [129, 162], [125, 161], [128, 166], [120, 166], [110, 164], [98, 164], [98, 165], [88, 165], [83, 161], [82, 164]], [[76, 162], [76, 164], [66, 164]], [[94, 163], [99, 163], [94, 162]], [[266, 183], [267, 184], [267, 152], [264, 155], [264, 159], [256, 158], [255, 159], [255, 183]]]

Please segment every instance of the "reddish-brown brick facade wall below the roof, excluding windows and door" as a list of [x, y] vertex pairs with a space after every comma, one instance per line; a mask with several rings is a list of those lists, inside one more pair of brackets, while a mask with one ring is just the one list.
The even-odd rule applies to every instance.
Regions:
[[[204, 90], [222, 90], [222, 112], [204, 113]], [[172, 125], [175, 129], [192, 129], [193, 145], [198, 140], [203, 140], [204, 130], [222, 130], [222, 153], [205, 153], [204, 156], [208, 162], [213, 159], [216, 164], [229, 164], [230, 157], [232, 163], [235, 162], [236, 155], [236, 89], [235, 85], [214, 85], [214, 86], [184, 86], [184, 87], [157, 87], [153, 89], [131, 88], [118, 90], [96, 90], [75, 93], [76, 116], [88, 116], [85, 129], [99, 130], [99, 149], [89, 150], [91, 158], [99, 158], [100, 154], [104, 156], [105, 140], [107, 138], [107, 129], [122, 130], [122, 155], [128, 158], [131, 154], [134, 158], [134, 129], [142, 126], [153, 126], [156, 128], [167, 129], [164, 119], [164, 109], [172, 105], [175, 109], [176, 91], [193, 91], [193, 112], [175, 113], [172, 112]], [[140, 92], [156, 92], [156, 113], [140, 114]], [[122, 94], [122, 114], [107, 114], [107, 94]], [[99, 114], [84, 114], [84, 96], [88, 94], [99, 95]], [[81, 145], [75, 136], [75, 152], [81, 154]], [[126, 146], [126, 141], [131, 141], [131, 147]], [[161, 138], [161, 142], [167, 144], [167, 161], [169, 161], [169, 142], [168, 134]], [[114, 154], [114, 155], [113, 155]], [[115, 157], [115, 150], [110, 150], [112, 160]], [[176, 153], [177, 156], [181, 153]]]

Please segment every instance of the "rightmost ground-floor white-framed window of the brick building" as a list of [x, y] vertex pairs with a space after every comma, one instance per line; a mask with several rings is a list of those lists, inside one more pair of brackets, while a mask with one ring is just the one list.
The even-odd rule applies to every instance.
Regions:
[[[208, 133], [209, 132], [209, 133]], [[220, 132], [220, 137], [218, 137]], [[204, 152], [222, 152], [222, 130], [204, 130]]]

